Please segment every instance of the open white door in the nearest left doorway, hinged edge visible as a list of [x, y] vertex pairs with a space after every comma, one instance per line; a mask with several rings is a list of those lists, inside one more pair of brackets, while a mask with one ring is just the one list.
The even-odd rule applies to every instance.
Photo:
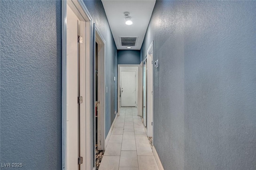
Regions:
[[78, 18], [67, 6], [67, 170], [78, 169]]

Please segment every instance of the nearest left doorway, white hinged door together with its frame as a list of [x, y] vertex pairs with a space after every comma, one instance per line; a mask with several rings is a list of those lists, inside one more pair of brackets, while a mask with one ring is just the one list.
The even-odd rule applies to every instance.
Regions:
[[81, 2], [62, 1], [62, 24], [63, 168], [92, 170], [91, 18]]

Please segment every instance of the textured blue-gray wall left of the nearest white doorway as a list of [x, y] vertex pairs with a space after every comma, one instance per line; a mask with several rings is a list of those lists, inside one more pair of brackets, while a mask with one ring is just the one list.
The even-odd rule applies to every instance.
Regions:
[[60, 170], [61, 1], [1, 0], [0, 20], [0, 163]]

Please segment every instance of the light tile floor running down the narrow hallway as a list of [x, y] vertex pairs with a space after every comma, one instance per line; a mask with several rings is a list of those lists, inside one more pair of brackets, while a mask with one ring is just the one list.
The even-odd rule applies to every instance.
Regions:
[[137, 108], [121, 108], [99, 170], [158, 170]]

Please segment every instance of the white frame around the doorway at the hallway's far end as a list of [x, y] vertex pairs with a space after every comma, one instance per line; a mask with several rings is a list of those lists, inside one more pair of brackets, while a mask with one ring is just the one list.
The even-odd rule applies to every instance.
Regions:
[[136, 77], [136, 105], [138, 108], [138, 70], [140, 68], [139, 64], [118, 64], [118, 70], [117, 70], [117, 76], [118, 76], [118, 81], [117, 81], [117, 112], [118, 116], [120, 115], [120, 67], [137, 67], [137, 77]]

